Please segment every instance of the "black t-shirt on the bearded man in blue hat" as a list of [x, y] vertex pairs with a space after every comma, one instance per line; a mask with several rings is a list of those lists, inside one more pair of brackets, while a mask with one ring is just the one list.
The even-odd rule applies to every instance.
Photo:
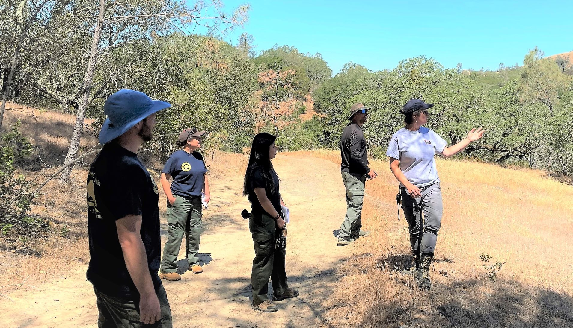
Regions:
[[136, 153], [117, 143], [105, 144], [93, 161], [87, 181], [89, 260], [87, 278], [100, 293], [139, 297], [117, 238], [115, 221], [141, 215], [147, 266], [157, 290], [161, 280], [159, 192]]

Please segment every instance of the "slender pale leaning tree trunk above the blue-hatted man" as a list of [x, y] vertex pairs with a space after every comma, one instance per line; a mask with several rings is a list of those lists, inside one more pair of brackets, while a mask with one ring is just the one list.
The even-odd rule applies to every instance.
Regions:
[[[89, 94], [92, 90], [93, 75], [96, 72], [97, 64], [97, 51], [100, 43], [101, 28], [103, 26], [105, 13], [105, 0], [100, 0], [100, 14], [97, 17], [96, 29], [93, 31], [92, 50], [89, 53], [88, 69], [85, 72], [84, 86], [81, 92], [80, 105], [76, 112], [76, 124], [73, 127], [72, 140], [70, 140], [70, 147], [68, 148], [68, 155], [64, 161], [64, 165], [68, 165], [73, 159], [76, 158], [77, 152], [80, 148], [81, 133], [84, 131], [84, 118], [85, 112], [88, 109]], [[62, 171], [61, 179], [67, 181], [74, 165], [69, 165]]]

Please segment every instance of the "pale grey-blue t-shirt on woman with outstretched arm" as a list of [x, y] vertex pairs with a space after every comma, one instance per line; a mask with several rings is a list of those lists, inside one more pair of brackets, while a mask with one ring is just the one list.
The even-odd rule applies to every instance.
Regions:
[[392, 136], [386, 156], [398, 159], [406, 179], [416, 187], [423, 187], [439, 181], [434, 155], [442, 153], [447, 144], [431, 129], [402, 128]]

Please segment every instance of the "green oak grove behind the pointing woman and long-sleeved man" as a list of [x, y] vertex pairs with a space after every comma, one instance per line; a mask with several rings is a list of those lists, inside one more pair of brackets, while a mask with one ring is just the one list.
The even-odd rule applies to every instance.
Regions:
[[411, 98], [435, 106], [428, 127], [450, 144], [473, 127], [486, 136], [465, 154], [488, 161], [525, 161], [531, 167], [571, 174], [571, 78], [555, 61], [532, 50], [519, 68], [499, 72], [457, 72], [425, 57], [402, 61], [390, 71], [370, 72], [347, 64], [313, 94], [326, 114], [316, 137], [336, 147], [354, 102], [372, 106], [365, 125], [370, 150], [383, 156], [392, 134], [403, 127], [399, 109]]

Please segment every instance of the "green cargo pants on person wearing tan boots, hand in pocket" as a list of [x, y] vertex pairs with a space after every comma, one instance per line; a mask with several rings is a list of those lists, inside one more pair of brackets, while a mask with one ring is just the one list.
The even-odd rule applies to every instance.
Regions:
[[199, 243], [202, 224], [201, 197], [183, 198], [175, 196], [175, 203], [167, 202], [167, 242], [163, 248], [161, 272], [177, 271], [177, 255], [185, 233], [186, 256], [189, 265], [199, 263]]

